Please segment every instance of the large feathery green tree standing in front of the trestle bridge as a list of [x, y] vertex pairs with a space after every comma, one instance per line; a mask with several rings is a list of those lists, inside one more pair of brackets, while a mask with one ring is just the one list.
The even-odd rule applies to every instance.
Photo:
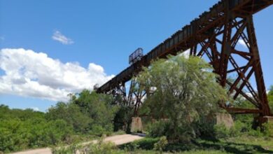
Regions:
[[211, 66], [198, 57], [158, 59], [136, 78], [143, 90], [155, 89], [141, 113], [168, 123], [165, 135], [169, 141], [190, 139], [198, 131], [196, 124], [228, 98], [216, 77]]

